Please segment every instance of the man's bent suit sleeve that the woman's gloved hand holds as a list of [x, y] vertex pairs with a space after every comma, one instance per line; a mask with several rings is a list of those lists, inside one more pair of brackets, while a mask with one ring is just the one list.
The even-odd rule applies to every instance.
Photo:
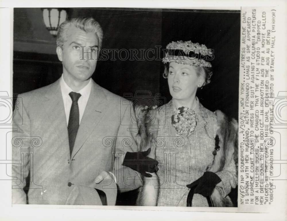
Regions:
[[121, 116], [121, 124], [119, 126], [115, 146], [116, 150], [119, 150], [119, 152], [115, 154], [113, 173], [117, 180], [119, 192], [126, 192], [139, 188], [143, 183], [141, 176], [137, 171], [122, 165], [125, 154], [128, 151], [138, 151], [136, 142], [138, 128], [137, 125], [132, 124], [131, 121], [131, 117], [134, 114], [133, 107], [131, 105], [121, 104], [121, 108], [124, 112]]

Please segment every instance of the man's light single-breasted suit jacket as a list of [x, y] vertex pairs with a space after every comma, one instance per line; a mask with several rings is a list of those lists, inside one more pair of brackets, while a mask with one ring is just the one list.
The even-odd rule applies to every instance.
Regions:
[[29, 204], [65, 204], [75, 185], [94, 187], [103, 170], [115, 173], [120, 191], [142, 185], [135, 171], [121, 166], [127, 151], [137, 151], [128, 131], [133, 127], [131, 106], [93, 80], [92, 84], [71, 156], [59, 80], [18, 96], [23, 105], [14, 110], [18, 126], [13, 132], [12, 159], [21, 163], [12, 165], [13, 203], [26, 203], [27, 171]]

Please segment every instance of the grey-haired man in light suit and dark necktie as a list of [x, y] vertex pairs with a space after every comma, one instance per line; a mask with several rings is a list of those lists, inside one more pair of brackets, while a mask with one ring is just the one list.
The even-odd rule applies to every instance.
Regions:
[[[18, 96], [23, 108], [14, 111], [14, 124], [19, 126], [13, 133], [12, 157], [21, 163], [12, 165], [17, 178], [12, 182], [13, 203], [67, 204], [75, 187], [85, 188], [86, 196], [80, 196], [85, 199], [96, 193], [95, 183], [112, 184], [114, 175], [121, 191], [142, 185], [137, 172], [121, 165], [127, 151], [137, 151], [133, 134], [124, 126], [131, 125], [130, 106], [91, 78], [102, 38], [102, 28], [93, 18], [63, 22], [56, 49], [63, 64], [61, 78]], [[19, 139], [22, 143], [16, 145]]]

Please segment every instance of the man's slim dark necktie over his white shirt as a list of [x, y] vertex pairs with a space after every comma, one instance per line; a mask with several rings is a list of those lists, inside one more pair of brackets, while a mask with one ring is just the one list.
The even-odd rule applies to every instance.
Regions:
[[68, 123], [68, 133], [69, 133], [69, 145], [70, 145], [70, 155], [72, 155], [74, 143], [76, 140], [77, 132], [79, 129], [79, 106], [78, 100], [81, 94], [76, 92], [69, 93], [72, 99], [72, 106], [70, 110], [69, 123]]

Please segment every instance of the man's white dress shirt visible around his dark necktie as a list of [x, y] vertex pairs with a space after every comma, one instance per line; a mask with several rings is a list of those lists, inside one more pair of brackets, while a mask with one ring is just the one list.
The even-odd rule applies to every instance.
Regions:
[[[67, 126], [69, 124], [69, 116], [70, 116], [70, 110], [71, 110], [71, 106], [72, 106], [72, 99], [69, 95], [70, 92], [72, 92], [73, 90], [67, 85], [67, 83], [65, 82], [64, 78], [63, 78], [63, 74], [61, 76], [60, 79], [60, 86], [61, 86], [61, 92], [62, 92], [62, 97], [63, 97], [63, 101], [64, 101], [64, 107], [65, 107], [65, 113], [66, 113], [66, 119], [67, 119]], [[81, 97], [78, 100], [78, 106], [79, 106], [79, 124], [81, 123], [90, 93], [91, 93], [91, 89], [92, 89], [92, 79], [90, 78], [89, 83], [83, 87], [81, 90], [79, 91], [74, 91], [77, 93], [81, 94]]]

